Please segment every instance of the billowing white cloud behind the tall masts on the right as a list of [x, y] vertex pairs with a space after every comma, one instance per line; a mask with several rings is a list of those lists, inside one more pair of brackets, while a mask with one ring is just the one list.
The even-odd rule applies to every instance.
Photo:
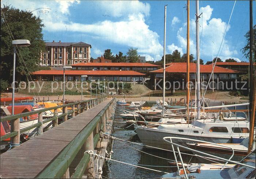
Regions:
[[[214, 18], [212, 16], [213, 8], [210, 5], [202, 7], [199, 10], [199, 13], [203, 12], [201, 18], [199, 19], [199, 37], [200, 43], [200, 54], [206, 56], [208, 59], [211, 59], [212, 51], [214, 57], [217, 56], [219, 47], [221, 45], [222, 38], [225, 33], [227, 23], [222, 21], [220, 18]], [[227, 33], [230, 29], [230, 25], [227, 27]], [[190, 37], [195, 37], [195, 19], [190, 20]], [[201, 36], [202, 33], [202, 36]], [[177, 33], [178, 45], [185, 51], [187, 49], [187, 23], [184, 23], [180, 27]], [[225, 38], [224, 43], [221, 47], [221, 54], [219, 56], [232, 56], [237, 55], [237, 51], [234, 50], [234, 47], [229, 43]], [[190, 39], [190, 53], [196, 54], [196, 44], [195, 40]], [[234, 58], [234, 57], [233, 57]], [[207, 61], [208, 59], [203, 59]], [[239, 59], [238, 59], [239, 60]]]

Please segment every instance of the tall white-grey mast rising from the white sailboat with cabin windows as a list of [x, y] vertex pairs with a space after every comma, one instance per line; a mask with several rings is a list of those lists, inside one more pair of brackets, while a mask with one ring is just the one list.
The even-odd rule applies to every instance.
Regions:
[[197, 119], [200, 119], [200, 56], [199, 56], [199, 0], [196, 0], [196, 79], [197, 79]]

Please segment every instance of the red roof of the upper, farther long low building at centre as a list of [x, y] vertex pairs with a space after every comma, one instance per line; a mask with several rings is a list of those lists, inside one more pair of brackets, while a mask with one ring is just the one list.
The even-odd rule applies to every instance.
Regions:
[[86, 66], [86, 67], [96, 67], [96, 66], [100, 66], [100, 67], [160, 67], [159, 65], [155, 65], [155, 64], [151, 64], [151, 63], [125, 63], [125, 62], [121, 62], [121, 63], [77, 63], [77, 64], [73, 64], [71, 65], [72, 67], [76, 67], [76, 66]]

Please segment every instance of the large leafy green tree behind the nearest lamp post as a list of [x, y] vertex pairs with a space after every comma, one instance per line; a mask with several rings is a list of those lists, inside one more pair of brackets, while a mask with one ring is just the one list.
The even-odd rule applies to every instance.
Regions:
[[15, 79], [29, 80], [29, 73], [40, 69], [38, 64], [41, 52], [45, 51], [42, 34], [44, 24], [32, 12], [15, 9], [8, 5], [4, 5], [1, 12], [1, 79], [12, 81], [12, 40], [27, 39], [31, 45], [17, 49]]

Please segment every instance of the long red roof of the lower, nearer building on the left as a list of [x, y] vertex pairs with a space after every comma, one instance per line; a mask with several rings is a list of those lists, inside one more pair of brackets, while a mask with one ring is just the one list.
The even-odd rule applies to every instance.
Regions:
[[[40, 70], [32, 72], [33, 75], [63, 75], [62, 70]], [[103, 75], [117, 75], [117, 76], [142, 76], [144, 73], [139, 73], [136, 71], [112, 71], [112, 70], [66, 70], [65, 75], [94, 75], [94, 76], [103, 76]]]

